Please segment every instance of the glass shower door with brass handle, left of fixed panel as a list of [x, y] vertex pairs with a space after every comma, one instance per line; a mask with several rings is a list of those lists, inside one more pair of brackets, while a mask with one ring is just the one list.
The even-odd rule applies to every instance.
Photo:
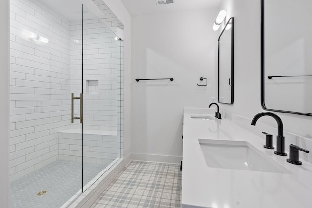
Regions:
[[10, 207], [61, 207], [81, 191], [82, 125], [71, 124], [71, 93], [81, 93], [82, 5], [10, 4]]

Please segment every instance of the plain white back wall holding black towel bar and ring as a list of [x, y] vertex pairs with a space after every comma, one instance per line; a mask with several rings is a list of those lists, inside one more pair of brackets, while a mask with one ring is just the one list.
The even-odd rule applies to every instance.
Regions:
[[[208, 108], [217, 93], [217, 9], [132, 17], [131, 151], [178, 163], [184, 107]], [[135, 81], [136, 78], [170, 78]], [[199, 78], [208, 86], [197, 86]], [[200, 83], [201, 84], [201, 83]]]

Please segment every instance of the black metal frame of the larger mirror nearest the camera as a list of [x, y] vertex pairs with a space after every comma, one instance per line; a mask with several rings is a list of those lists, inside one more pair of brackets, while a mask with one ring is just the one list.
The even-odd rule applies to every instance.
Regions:
[[269, 109], [265, 106], [265, 74], [264, 74], [264, 0], [261, 0], [261, 107], [266, 111], [275, 111], [281, 113], [292, 113], [297, 115], [306, 115], [312, 116], [312, 113], [301, 113], [301, 112], [293, 112], [293, 111], [284, 111], [278, 109]]

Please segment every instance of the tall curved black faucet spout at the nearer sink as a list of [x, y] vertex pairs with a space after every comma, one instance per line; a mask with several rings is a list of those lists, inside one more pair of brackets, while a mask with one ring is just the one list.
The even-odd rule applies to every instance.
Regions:
[[278, 115], [271, 112], [258, 113], [254, 116], [251, 125], [255, 126], [257, 120], [265, 115], [271, 116], [277, 121], [276, 151], [274, 153], [280, 156], [287, 156], [287, 153], [285, 153], [285, 137], [283, 136], [284, 134], [283, 122]]

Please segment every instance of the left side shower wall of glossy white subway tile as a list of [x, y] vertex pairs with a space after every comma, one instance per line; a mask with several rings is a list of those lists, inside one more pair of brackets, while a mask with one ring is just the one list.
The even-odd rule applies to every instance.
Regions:
[[70, 127], [70, 22], [36, 3], [10, 0], [11, 180], [57, 160]]

